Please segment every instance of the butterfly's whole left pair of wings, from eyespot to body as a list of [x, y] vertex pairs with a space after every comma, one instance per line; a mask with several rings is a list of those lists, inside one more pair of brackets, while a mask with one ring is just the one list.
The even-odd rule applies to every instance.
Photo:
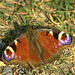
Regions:
[[27, 31], [7, 46], [2, 59], [6, 64], [19, 63], [23, 66], [28, 62], [34, 66], [41, 64], [33, 30]]

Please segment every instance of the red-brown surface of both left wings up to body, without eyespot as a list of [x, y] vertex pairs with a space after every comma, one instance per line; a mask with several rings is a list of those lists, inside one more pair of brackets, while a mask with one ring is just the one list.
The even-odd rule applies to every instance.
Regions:
[[[32, 33], [33, 32], [31, 32], [31, 34]], [[34, 36], [31, 34], [27, 34], [28, 38], [24, 36], [19, 39], [20, 43], [17, 43], [16, 55], [19, 60], [30, 62], [36, 66], [41, 63], [41, 57], [35, 39], [33, 40]]]

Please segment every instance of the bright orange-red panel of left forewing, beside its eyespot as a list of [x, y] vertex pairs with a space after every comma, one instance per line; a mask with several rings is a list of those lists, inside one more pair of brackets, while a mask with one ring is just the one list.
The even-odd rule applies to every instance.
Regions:
[[29, 58], [29, 42], [26, 37], [21, 37], [19, 39], [20, 42], [16, 44], [16, 55], [15, 59], [19, 59], [27, 62]]

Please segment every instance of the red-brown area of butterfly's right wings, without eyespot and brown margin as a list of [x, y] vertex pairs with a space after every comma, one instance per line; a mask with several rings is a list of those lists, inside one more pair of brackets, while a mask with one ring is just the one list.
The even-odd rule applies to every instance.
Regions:
[[[42, 56], [43, 60], [46, 61], [47, 59], [55, 59], [53, 56], [57, 53], [60, 46], [58, 45], [59, 41], [53, 37], [52, 34], [46, 35], [46, 32], [41, 31], [38, 32], [38, 38], [41, 47], [42, 47]], [[53, 57], [53, 58], [52, 58]]]

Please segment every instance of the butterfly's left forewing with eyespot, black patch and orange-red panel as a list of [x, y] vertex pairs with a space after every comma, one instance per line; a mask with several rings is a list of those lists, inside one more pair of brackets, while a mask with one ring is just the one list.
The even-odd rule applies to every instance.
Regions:
[[3, 52], [2, 59], [6, 64], [16, 64], [26, 62], [29, 58], [29, 42], [26, 35], [15, 39]]

